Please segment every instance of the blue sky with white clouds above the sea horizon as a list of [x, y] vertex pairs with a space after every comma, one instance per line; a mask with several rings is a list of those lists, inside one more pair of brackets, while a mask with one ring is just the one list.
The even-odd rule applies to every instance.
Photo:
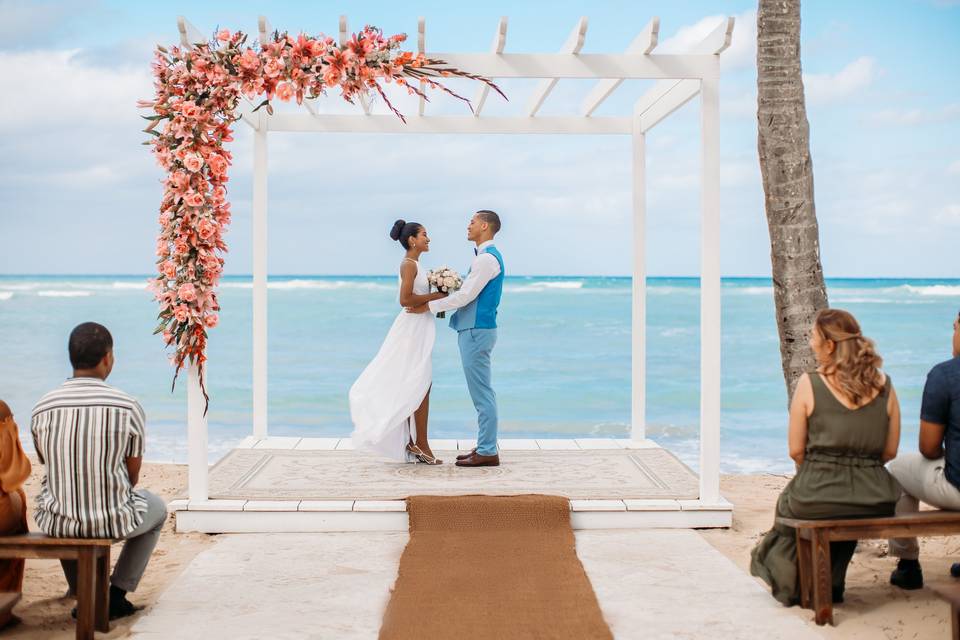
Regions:
[[[960, 2], [805, 0], [801, 59], [815, 201], [828, 277], [957, 277], [960, 236]], [[502, 15], [506, 50], [552, 52], [582, 15], [584, 53], [621, 52], [653, 16], [657, 51], [680, 51], [734, 16], [721, 57], [721, 263], [769, 276], [757, 160], [756, 2], [231, 2], [0, 0], [0, 275], [149, 274], [162, 174], [140, 144], [151, 51], [204, 33], [274, 28], [335, 35], [406, 32], [427, 51], [485, 52]], [[502, 81], [518, 114], [536, 81]], [[627, 82], [597, 116], [626, 115], [649, 82]], [[457, 85], [461, 88], [462, 85]], [[574, 114], [592, 83], [561, 81], [543, 115]], [[466, 87], [467, 95], [473, 95]], [[334, 94], [321, 110], [348, 112]], [[402, 108], [410, 113], [415, 104]], [[376, 105], [375, 110], [382, 110]], [[428, 113], [467, 113], [436, 97]], [[250, 130], [237, 125], [226, 274], [251, 268]], [[650, 275], [699, 271], [699, 111], [691, 101], [647, 136]], [[386, 274], [401, 257], [396, 218], [424, 224], [427, 264], [472, 256], [473, 211], [503, 220], [508, 271], [627, 275], [632, 264], [629, 136], [274, 133], [269, 140], [269, 270]]]

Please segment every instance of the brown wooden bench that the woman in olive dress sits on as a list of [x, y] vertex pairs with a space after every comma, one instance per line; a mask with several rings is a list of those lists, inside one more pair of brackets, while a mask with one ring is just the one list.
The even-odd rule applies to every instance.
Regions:
[[841, 540], [912, 538], [960, 534], [960, 511], [921, 511], [909, 516], [849, 520], [777, 518], [797, 530], [800, 604], [813, 609], [817, 624], [833, 624], [830, 543]]

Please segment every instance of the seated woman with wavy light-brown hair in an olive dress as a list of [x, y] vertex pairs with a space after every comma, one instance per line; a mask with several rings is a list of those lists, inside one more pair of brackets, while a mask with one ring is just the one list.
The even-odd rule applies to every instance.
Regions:
[[[777, 516], [800, 519], [893, 515], [900, 486], [884, 463], [897, 455], [900, 405], [872, 340], [848, 312], [826, 309], [810, 333], [816, 371], [797, 382], [788, 443], [797, 474], [777, 500]], [[774, 524], [751, 553], [750, 572], [773, 597], [798, 604], [796, 531]], [[833, 601], [843, 602], [856, 541], [831, 542]]]

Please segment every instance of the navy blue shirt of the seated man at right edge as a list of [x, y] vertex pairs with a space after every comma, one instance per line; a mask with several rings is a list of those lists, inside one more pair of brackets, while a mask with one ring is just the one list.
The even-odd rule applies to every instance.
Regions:
[[941, 362], [927, 374], [920, 419], [943, 425], [944, 475], [960, 489], [960, 357]]

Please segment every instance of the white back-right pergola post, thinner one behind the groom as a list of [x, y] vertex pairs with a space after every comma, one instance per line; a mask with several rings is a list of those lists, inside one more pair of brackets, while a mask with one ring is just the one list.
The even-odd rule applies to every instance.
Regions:
[[633, 305], [630, 439], [647, 437], [647, 150], [639, 113], [633, 117]]

